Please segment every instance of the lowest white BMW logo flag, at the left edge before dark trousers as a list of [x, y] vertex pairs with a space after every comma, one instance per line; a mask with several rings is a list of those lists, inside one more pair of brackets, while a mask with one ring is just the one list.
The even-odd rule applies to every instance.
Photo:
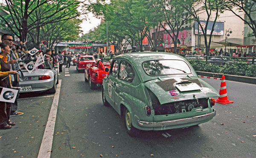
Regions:
[[14, 103], [18, 90], [0, 87], [0, 101]]

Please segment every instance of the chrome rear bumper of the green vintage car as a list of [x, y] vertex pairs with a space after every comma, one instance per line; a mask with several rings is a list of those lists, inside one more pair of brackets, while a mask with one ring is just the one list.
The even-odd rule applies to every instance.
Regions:
[[145, 122], [139, 121], [138, 125], [142, 127], [163, 127], [163, 126], [175, 126], [175, 125], [182, 125], [182, 124], [191, 124], [195, 122], [205, 121], [213, 118], [216, 115], [216, 110], [209, 114], [199, 115], [192, 118], [183, 118], [179, 120], [172, 120], [172, 121], [163, 121], [163, 122]]

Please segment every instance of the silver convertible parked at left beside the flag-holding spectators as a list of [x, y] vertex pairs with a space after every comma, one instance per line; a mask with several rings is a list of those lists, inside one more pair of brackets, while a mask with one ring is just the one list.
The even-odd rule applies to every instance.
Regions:
[[56, 84], [58, 84], [58, 67], [52, 67], [48, 60], [44, 60], [43, 66], [38, 67], [29, 74], [26, 69], [22, 69], [24, 78], [19, 82], [21, 87], [20, 93], [49, 91], [56, 92]]

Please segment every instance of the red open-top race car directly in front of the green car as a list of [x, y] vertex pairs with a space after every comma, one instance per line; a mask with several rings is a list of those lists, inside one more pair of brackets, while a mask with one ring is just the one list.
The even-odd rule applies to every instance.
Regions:
[[84, 81], [90, 84], [90, 89], [95, 89], [97, 86], [102, 85], [102, 80], [108, 76], [110, 69], [110, 62], [102, 63], [101, 60], [93, 66], [87, 66], [84, 70]]

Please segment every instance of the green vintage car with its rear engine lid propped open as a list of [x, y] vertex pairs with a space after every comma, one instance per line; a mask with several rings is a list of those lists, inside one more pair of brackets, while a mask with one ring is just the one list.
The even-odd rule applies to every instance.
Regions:
[[207, 122], [216, 115], [211, 97], [218, 96], [186, 59], [171, 53], [118, 55], [102, 84], [103, 104], [122, 116], [129, 135]]

